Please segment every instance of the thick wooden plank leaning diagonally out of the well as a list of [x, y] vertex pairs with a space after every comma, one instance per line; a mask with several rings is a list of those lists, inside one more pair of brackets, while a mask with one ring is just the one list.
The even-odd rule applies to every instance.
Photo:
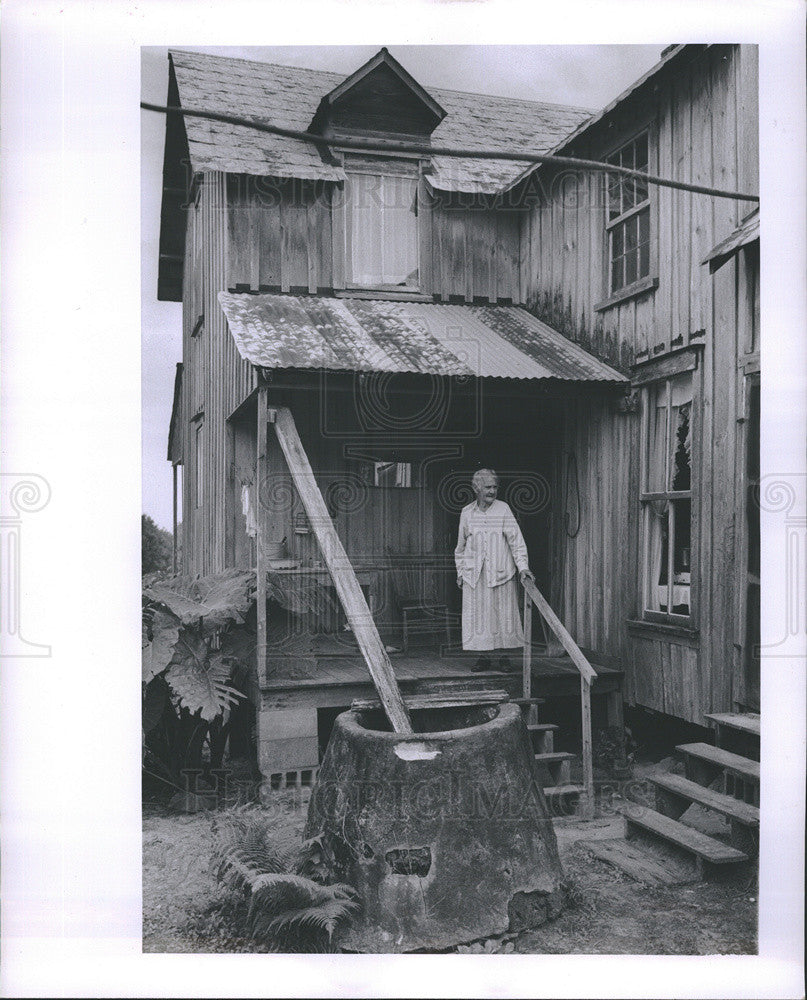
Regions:
[[[412, 724], [401, 697], [395, 671], [384, 648], [384, 643], [381, 641], [381, 636], [378, 634], [378, 629], [370, 614], [359, 581], [356, 579], [353, 566], [336, 533], [325, 500], [314, 478], [291, 410], [285, 406], [279, 406], [273, 409], [268, 416], [271, 417], [272, 414], [274, 415], [275, 433], [288, 463], [294, 485], [303, 502], [303, 507], [325, 559], [325, 564], [330, 571], [339, 600], [342, 602], [347, 620], [353, 629], [367, 669], [370, 671], [370, 676], [378, 691], [381, 704], [395, 732], [411, 733]], [[263, 423], [265, 426], [266, 421]]]

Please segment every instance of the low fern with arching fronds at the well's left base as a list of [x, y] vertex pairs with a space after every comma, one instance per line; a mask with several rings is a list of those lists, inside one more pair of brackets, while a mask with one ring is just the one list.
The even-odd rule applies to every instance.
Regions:
[[335, 931], [359, 908], [355, 890], [301, 874], [301, 850], [282, 840], [279, 824], [252, 807], [232, 810], [215, 826], [219, 881], [247, 900], [245, 929], [273, 951], [331, 951]]

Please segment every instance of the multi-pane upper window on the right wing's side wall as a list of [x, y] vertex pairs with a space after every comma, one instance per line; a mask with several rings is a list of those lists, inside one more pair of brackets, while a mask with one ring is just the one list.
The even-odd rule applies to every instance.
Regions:
[[[607, 160], [617, 167], [647, 173], [647, 132], [626, 143]], [[650, 195], [637, 177], [608, 175], [608, 292], [613, 295], [650, 274]]]

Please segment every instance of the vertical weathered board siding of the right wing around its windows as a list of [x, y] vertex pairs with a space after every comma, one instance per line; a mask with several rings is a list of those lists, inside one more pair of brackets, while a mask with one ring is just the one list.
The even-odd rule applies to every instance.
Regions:
[[[651, 127], [652, 172], [715, 187], [758, 190], [757, 50], [714, 46], [658, 79], [617, 109], [574, 154], [601, 158]], [[703, 257], [754, 207], [745, 202], [651, 189], [655, 291], [596, 310], [606, 297], [605, 208], [601, 178], [542, 178], [541, 203], [522, 227], [528, 308], [622, 370], [687, 345], [699, 348], [693, 373], [693, 580], [695, 637], [632, 629], [641, 617], [639, 413], [603, 403], [569, 405], [564, 450], [580, 486], [580, 531], [558, 527], [563, 567], [558, 607], [578, 643], [617, 658], [626, 697], [703, 724], [708, 711], [742, 701], [737, 642], [743, 613], [736, 560], [744, 531], [736, 488], [742, 478], [748, 293], [744, 257], [714, 276]], [[526, 261], [526, 264], [525, 264]], [[651, 255], [652, 262], [652, 255]], [[743, 268], [742, 272], [740, 268]], [[758, 304], [753, 309], [758, 309]], [[567, 458], [568, 461], [568, 458]], [[574, 513], [572, 512], [572, 519]], [[553, 588], [554, 590], [554, 588]], [[556, 592], [556, 591], [555, 591]]]

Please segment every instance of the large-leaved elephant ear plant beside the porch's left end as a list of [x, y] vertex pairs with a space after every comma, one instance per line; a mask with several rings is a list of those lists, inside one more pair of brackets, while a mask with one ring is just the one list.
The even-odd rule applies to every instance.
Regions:
[[188, 792], [221, 768], [231, 713], [250, 690], [255, 574], [153, 582], [142, 597], [143, 777]]

